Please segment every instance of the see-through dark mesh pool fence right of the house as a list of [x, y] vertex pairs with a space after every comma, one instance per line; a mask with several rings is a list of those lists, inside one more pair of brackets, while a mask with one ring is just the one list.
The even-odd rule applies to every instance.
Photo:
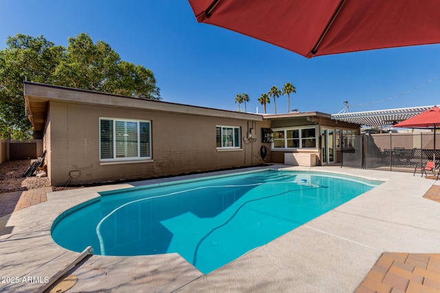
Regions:
[[[436, 149], [440, 136], [436, 134]], [[342, 138], [341, 165], [364, 169], [414, 172], [416, 167], [433, 161], [434, 133], [390, 133], [350, 135]], [[436, 169], [440, 150], [435, 151]]]

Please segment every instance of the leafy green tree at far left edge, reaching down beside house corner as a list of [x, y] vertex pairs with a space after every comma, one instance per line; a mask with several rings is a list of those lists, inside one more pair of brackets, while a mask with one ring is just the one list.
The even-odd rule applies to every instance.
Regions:
[[63, 47], [43, 36], [17, 34], [0, 50], [0, 134], [5, 139], [30, 139], [25, 117], [23, 80], [52, 83], [52, 72], [63, 58]]

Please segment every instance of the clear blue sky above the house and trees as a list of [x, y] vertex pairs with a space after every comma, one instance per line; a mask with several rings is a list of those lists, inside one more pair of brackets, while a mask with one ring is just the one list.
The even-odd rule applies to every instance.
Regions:
[[[307, 59], [197, 23], [186, 0], [0, 0], [1, 49], [17, 33], [67, 46], [82, 32], [151, 69], [167, 102], [236, 110], [236, 94], [248, 93], [248, 111], [263, 113], [261, 94], [292, 82], [290, 108], [303, 112], [338, 113], [346, 100], [351, 112], [440, 104], [440, 45]], [[286, 113], [287, 96], [276, 106]]]

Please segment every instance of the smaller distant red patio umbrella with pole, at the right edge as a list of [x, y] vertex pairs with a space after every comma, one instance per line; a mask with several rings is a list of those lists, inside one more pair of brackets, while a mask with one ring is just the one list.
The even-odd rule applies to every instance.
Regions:
[[440, 126], [440, 108], [434, 106], [429, 110], [426, 110], [419, 115], [415, 115], [409, 119], [395, 124], [394, 127], [401, 128], [433, 128], [434, 129], [434, 154], [432, 155], [432, 161], [434, 161], [434, 174], [435, 174], [435, 130], [437, 126]]

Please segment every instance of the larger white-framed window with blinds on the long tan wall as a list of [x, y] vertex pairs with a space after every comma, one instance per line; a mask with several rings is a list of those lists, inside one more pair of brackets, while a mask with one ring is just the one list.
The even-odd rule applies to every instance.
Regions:
[[150, 128], [150, 121], [101, 118], [100, 159], [150, 159]]

